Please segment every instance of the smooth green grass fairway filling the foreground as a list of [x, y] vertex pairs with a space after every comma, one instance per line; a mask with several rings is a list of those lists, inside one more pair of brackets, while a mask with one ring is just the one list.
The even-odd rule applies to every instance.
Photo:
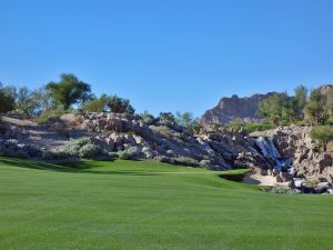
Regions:
[[333, 197], [141, 161], [0, 158], [0, 249], [333, 249]]

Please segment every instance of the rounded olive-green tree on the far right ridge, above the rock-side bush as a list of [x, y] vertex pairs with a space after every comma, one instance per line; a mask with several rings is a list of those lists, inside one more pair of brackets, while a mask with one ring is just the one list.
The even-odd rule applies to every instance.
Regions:
[[305, 118], [309, 119], [312, 124], [324, 124], [330, 118], [326, 100], [327, 97], [319, 89], [311, 92], [304, 112]]

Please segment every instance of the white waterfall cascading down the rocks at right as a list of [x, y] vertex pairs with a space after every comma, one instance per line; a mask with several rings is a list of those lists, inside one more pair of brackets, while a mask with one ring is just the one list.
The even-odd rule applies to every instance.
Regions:
[[290, 159], [283, 159], [275, 148], [273, 141], [269, 138], [260, 137], [255, 140], [256, 146], [260, 148], [262, 156], [275, 161], [275, 169], [281, 170], [285, 166], [291, 164]]

